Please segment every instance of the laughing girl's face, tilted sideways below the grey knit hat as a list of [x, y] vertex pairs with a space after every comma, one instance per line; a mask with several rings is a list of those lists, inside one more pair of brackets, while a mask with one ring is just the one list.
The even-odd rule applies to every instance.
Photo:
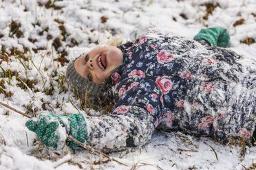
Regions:
[[74, 62], [76, 72], [85, 79], [102, 84], [122, 64], [122, 51], [114, 46], [96, 47]]

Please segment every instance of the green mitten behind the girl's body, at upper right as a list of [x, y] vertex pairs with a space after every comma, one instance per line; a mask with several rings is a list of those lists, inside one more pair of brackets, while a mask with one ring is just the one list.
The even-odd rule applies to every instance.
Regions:
[[230, 45], [230, 37], [223, 27], [201, 29], [194, 38], [204, 39], [212, 46], [217, 47], [228, 47]]

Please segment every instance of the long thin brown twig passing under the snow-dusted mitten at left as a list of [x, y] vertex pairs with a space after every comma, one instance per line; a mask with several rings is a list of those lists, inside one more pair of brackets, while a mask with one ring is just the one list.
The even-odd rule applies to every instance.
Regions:
[[[32, 117], [30, 117], [28, 114], [25, 114], [25, 113], [23, 113], [23, 112], [20, 112], [19, 110], [16, 110], [16, 109], [14, 109], [14, 108], [12, 108], [11, 106], [8, 106], [8, 105], [6, 105], [6, 104], [3, 104], [1, 101], [0, 101], [0, 104], [3, 105], [3, 106], [6, 106], [7, 108], [10, 108], [11, 110], [14, 110], [15, 112], [17, 112], [17, 113], [19, 113], [19, 114], [22, 114], [22, 115], [25, 116], [25, 117], [28, 117], [28, 118], [30, 118], [30, 119], [32, 118]], [[101, 151], [98, 151], [98, 150], [96, 150], [96, 149], [93, 149], [92, 147], [89, 147], [89, 146], [87, 146], [87, 145], [85, 145], [85, 144], [83, 144], [83, 143], [77, 141], [75, 138], [72, 138], [71, 136], [67, 136], [67, 138], [69, 138], [71, 141], [74, 141], [75, 143], [78, 143], [78, 144], [81, 145], [82, 147], [84, 147], [84, 148], [86, 148], [86, 149], [89, 149], [90, 151], [94, 151], [94, 152], [96, 152], [97, 154], [100, 154], [100, 155], [102, 155], [102, 156], [105, 156], [106, 158], [109, 158], [109, 160], [114, 160], [115, 162], [120, 163], [120, 165], [125, 165], [124, 163], [122, 163], [122, 162], [116, 160], [115, 158], [111, 158], [110, 156], [104, 154], [104, 153], [101, 152]], [[128, 165], [125, 165], [125, 166], [128, 166]]]

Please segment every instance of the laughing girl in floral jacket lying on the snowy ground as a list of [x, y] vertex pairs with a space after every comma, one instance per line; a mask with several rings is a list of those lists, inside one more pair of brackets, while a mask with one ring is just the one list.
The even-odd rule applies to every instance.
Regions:
[[135, 42], [92, 49], [70, 62], [67, 80], [94, 104], [114, 101], [111, 113], [41, 114], [26, 126], [54, 148], [62, 148], [68, 134], [105, 152], [120, 151], [147, 143], [157, 127], [250, 144], [256, 62], [221, 48], [228, 42], [221, 27], [202, 29], [195, 40], [149, 29]]

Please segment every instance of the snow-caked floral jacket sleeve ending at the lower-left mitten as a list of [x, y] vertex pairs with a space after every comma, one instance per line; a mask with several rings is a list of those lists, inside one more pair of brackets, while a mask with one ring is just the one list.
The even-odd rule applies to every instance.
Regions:
[[85, 118], [87, 145], [105, 152], [144, 145], [158, 124], [158, 102], [149, 100], [149, 93], [140, 87], [129, 88], [111, 114]]

